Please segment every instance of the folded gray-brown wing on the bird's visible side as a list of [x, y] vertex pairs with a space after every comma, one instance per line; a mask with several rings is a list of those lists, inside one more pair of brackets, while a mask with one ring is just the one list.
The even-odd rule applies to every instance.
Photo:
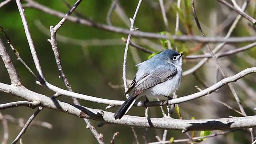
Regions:
[[166, 80], [171, 79], [176, 74], [177, 69], [175, 67], [172, 67], [171, 69], [157, 70], [157, 72], [148, 74], [140, 81], [136, 82], [136, 84], [134, 85], [135, 89], [132, 92], [132, 96], [137, 96], [138, 94], [141, 94], [148, 88], [151, 88], [153, 86], [156, 86], [157, 84], [160, 84], [162, 82], [165, 82]]

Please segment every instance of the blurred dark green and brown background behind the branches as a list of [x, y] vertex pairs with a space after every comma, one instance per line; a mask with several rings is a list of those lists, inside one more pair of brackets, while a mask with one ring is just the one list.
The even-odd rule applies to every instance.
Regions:
[[[0, 2], [2, 1], [3, 0], [0, 0]], [[22, 2], [26, 3], [24, 1]], [[37, 0], [37, 2], [63, 13], [66, 13], [69, 10], [69, 8], [62, 2], [62, 0]], [[68, 2], [70, 5], [73, 5], [76, 1], [66, 0], [66, 2]], [[169, 0], [164, 0], [164, 2], [166, 4], [165, 6], [167, 6]], [[95, 22], [106, 24], [106, 15], [108, 13], [111, 3], [111, 0], [84, 0], [76, 9], [76, 12], [83, 14], [84, 16], [91, 20], [94, 20]], [[240, 3], [242, 2], [238, 2], [238, 4]], [[138, 0], [120, 0], [120, 6], [124, 9], [124, 12], [127, 14], [128, 17], [133, 16], [137, 4]], [[174, 34], [176, 13], [172, 8], [172, 5], [176, 4], [176, 1], [172, 1], [172, 3], [170, 4], [170, 9], [166, 12], [166, 14], [169, 22], [170, 33]], [[182, 1], [181, 5], [182, 10], [184, 11], [184, 1]], [[248, 11], [250, 12], [249, 14], [253, 13], [253, 8], [254, 5], [250, 5], [248, 7]], [[196, 0], [196, 10], [198, 13], [198, 18], [202, 24], [202, 28], [206, 33], [206, 36], [216, 35], [216, 25], [220, 24], [223, 20], [225, 20], [228, 17], [228, 14], [231, 14], [229, 9], [223, 8], [223, 6], [220, 6], [220, 4], [217, 3], [217, 1]], [[230, 13], [225, 14], [225, 10]], [[56, 62], [54, 54], [52, 52], [51, 45], [46, 40], [47, 38], [50, 38], [48, 35], [46, 35], [46, 33], [50, 33], [50, 26], [55, 26], [55, 24], [57, 24], [60, 21], [60, 18], [56, 18], [54, 16], [31, 8], [26, 8], [25, 13], [26, 18], [28, 20], [28, 26], [30, 28], [30, 32], [34, 41], [34, 45], [36, 47], [36, 52], [38, 54], [40, 64], [42, 66], [42, 70], [46, 80], [49, 83], [54, 84], [55, 86], [65, 89], [62, 80], [58, 78], [58, 70], [56, 67]], [[192, 30], [194, 34], [199, 35], [192, 14], [188, 16], [190, 17], [190, 22], [192, 24]], [[124, 22], [122, 22], [122, 20], [118, 17], [118, 14], [116, 12], [113, 12], [112, 14], [112, 23], [114, 26], [127, 28]], [[238, 24], [232, 36], [250, 35], [250, 33], [248, 32], [249, 29], [246, 27], [246, 24], [248, 24], [247, 21], [243, 21], [240, 24]], [[165, 31], [165, 26], [162, 19], [162, 14], [158, 0], [144, 0], [142, 2], [137, 18], [135, 20], [135, 25], [136, 28], [139, 28], [141, 31], [145, 32]], [[2, 26], [6, 30], [5, 32], [8, 34], [12, 44], [18, 49], [20, 56], [23, 58], [23, 60], [28, 64], [28, 66], [30, 66], [30, 68], [32, 68], [34, 72], [36, 72], [34, 62], [30, 54], [28, 42], [24, 33], [24, 28], [22, 25], [20, 14], [18, 12], [18, 8], [14, 0], [7, 4], [6, 6], [0, 8], [0, 26]], [[224, 36], [229, 26], [230, 24], [221, 32], [217, 32], [217, 35]], [[182, 32], [182, 34], [188, 33], [185, 24], [183, 24], [182, 22], [180, 22], [180, 31]], [[111, 100], [125, 100], [124, 88], [111, 88], [109, 83], [113, 85], [122, 85], [122, 68], [125, 43], [122, 42], [121, 38], [127, 38], [126, 35], [116, 34], [113, 32], [106, 32], [104, 30], [99, 30], [88, 26], [82, 26], [69, 21], [64, 23], [64, 25], [62, 26], [62, 28], [60, 28], [57, 34], [77, 40], [87, 40], [87, 42], [88, 40], [90, 41], [95, 39], [113, 39], [113, 42], [110, 42], [111, 45], [102, 44], [103, 46], [97, 46], [98, 44], [96, 44], [96, 46], [86, 46], [86, 42], [84, 42], [84, 44], [82, 45], [71, 44], [70, 42], [61, 42], [59, 41], [60, 37], [58, 37], [57, 44], [58, 50], [60, 52], [62, 68], [74, 92]], [[6, 39], [3, 34], [0, 35], [0, 38], [2, 38], [2, 40], [5, 42], [5, 46], [8, 48], [8, 52], [12, 57], [12, 62], [15, 64], [18, 70], [18, 73], [24, 86], [26, 86], [26, 88], [34, 92], [38, 92], [49, 97], [52, 96], [54, 92], [35, 84], [36, 79], [17, 60], [14, 52], [12, 52], [12, 50], [6, 43]], [[141, 42], [139, 38], [132, 37], [132, 41], [138, 42], [138, 44], [145, 46], [150, 50], [159, 52], [159, 50], [155, 50], [147, 43]], [[159, 40], [151, 41], [161, 46]], [[98, 43], [101, 43], [101, 41]], [[194, 48], [195, 46], [197, 46], [197, 43], [186, 42], [182, 43], [182, 45], [185, 47], [185, 50], [190, 50], [190, 48]], [[231, 46], [238, 48], [244, 45], [245, 44], [232, 44]], [[212, 44], [211, 46], [214, 47], [215, 45]], [[131, 47], [130, 49], [133, 51], [135, 50]], [[206, 49], [204, 48], [203, 50]], [[138, 56], [140, 56], [140, 59], [142, 61], [147, 60], [148, 56], [150, 55], [141, 51], [137, 52]], [[197, 53], [200, 54], [202, 53], [202, 51], [200, 50]], [[249, 52], [245, 52], [245, 54], [249, 54], [252, 58], [255, 58], [256, 56], [255, 49], [249, 50]], [[234, 72], [239, 72], [244, 68], [252, 66], [248, 64], [248, 62], [244, 61], [243, 58], [241, 57], [231, 56], [228, 58], [230, 58], [231, 62], [236, 62], [236, 65], [233, 66], [227, 62], [225, 66], [234, 70]], [[138, 61], [135, 62], [133, 60], [133, 55], [130, 50], [127, 59], [127, 78], [132, 80], [136, 74], [135, 65], [138, 63]], [[221, 60], [225, 62], [224, 58]], [[198, 60], [184, 60], [183, 69], [188, 70], [197, 62]], [[212, 70], [216, 70], [216, 66], [214, 66], [213, 63], [208, 62], [206, 66], [204, 66], [204, 68], [201, 68], [200, 70], [196, 71], [196, 74], [200, 76], [200, 78], [204, 80], [206, 83], [212, 85], [214, 84], [214, 81], [216, 79], [216, 74], [214, 75], [211, 73]], [[207, 72], [209, 75], [205, 74]], [[218, 80], [220, 80], [221, 78], [222, 77], [219, 76]], [[0, 82], [10, 84], [8, 73], [4, 67], [2, 60], [0, 60]], [[252, 86], [253, 90], [255, 90], [255, 85], [252, 85], [253, 80], [250, 81], [246, 79], [246, 82], [247, 84]], [[194, 88], [194, 86], [196, 85], [198, 85], [200, 88], [203, 88], [202, 84], [200, 84], [192, 74], [190, 74], [189, 76], [184, 76], [182, 79], [181, 87], [177, 91], [178, 96], [185, 96], [197, 92], [198, 90]], [[236, 88], [236, 90], [238, 90], [240, 98], [242, 100], [247, 99], [246, 93], [240, 89], [240, 86], [236, 86]], [[220, 100], [238, 109], [238, 106], [227, 86], [224, 86], [224, 88], [222, 88], [217, 95], [219, 95], [217, 98], [220, 98]], [[61, 96], [58, 99], [66, 102], [72, 102], [71, 98], [67, 96]], [[21, 99], [8, 94], [0, 93], [0, 104], [6, 102], [13, 102], [17, 100]], [[79, 102], [82, 106], [87, 106], [90, 108], [104, 110], [106, 107], [106, 105], [104, 104], [95, 104], [93, 102], [87, 102], [84, 100], [79, 100]], [[247, 114], [254, 114], [252, 108], [248, 107], [248, 104], [245, 105]], [[184, 119], [190, 119], [192, 116], [194, 116], [196, 119], [224, 118], [230, 115], [240, 116], [234, 113], [232, 110], [229, 110], [221, 104], [213, 102], [212, 100], [209, 100], [206, 97], [197, 100], [192, 100], [190, 102], [185, 102], [180, 104], [179, 106], [181, 109], [181, 114]], [[107, 111], [115, 112], [115, 110], [116, 108], [111, 108]], [[26, 122], [26, 120], [29, 118], [29, 116], [31, 116], [31, 114], [33, 114], [34, 111], [35, 110], [32, 110], [30, 108], [18, 107], [1, 110], [1, 113], [10, 114], [15, 118], [24, 118]], [[128, 114], [144, 116], [144, 109], [137, 107], [132, 108], [132, 110], [130, 110]], [[160, 108], [149, 108], [149, 116], [162, 117]], [[175, 110], [172, 117], [178, 118]], [[42, 112], [40, 112], [40, 114], [38, 114], [35, 120], [49, 122], [53, 125], [53, 128], [47, 129], [40, 126], [31, 126], [22, 136], [22, 141], [24, 142], [24, 144], [97, 143], [96, 138], [93, 136], [90, 130], [86, 128], [84, 120], [78, 117], [64, 114], [62, 112], [56, 112], [54, 110], [49, 110], [46, 108]], [[112, 139], [112, 136], [115, 132], [120, 132], [119, 136], [116, 137], [116, 144], [136, 143], [134, 135], [132, 133], [132, 129], [130, 127], [104, 125], [103, 127], [97, 128], [97, 124], [99, 122], [94, 120], [91, 120], [91, 122], [96, 127], [96, 130], [99, 133], [103, 134], [104, 141], [106, 143], [110, 143], [110, 140]], [[13, 123], [9, 123], [8, 126], [10, 130], [10, 138], [8, 142], [10, 143], [20, 132], [21, 128]], [[145, 135], [145, 130], [143, 128], [135, 128], [135, 130], [138, 134], [138, 139], [140, 140], [140, 143], [144, 143], [143, 136]], [[156, 135], [162, 138], [162, 133], [163, 130], [149, 129], [148, 142], [155, 142]], [[2, 125], [0, 125], [0, 140], [2, 139], [2, 134]], [[196, 134], [196, 136], [198, 136], [198, 133]], [[169, 140], [171, 137], [174, 137], [175, 139], [187, 138], [186, 135], [182, 134], [182, 132], [180, 131], [169, 130], [167, 140]], [[216, 142], [223, 144], [226, 144], [226, 142], [248, 143], [250, 142], [250, 134], [248, 131], [242, 130], [227, 134], [226, 136], [208, 138], [203, 143], [207, 144]]]

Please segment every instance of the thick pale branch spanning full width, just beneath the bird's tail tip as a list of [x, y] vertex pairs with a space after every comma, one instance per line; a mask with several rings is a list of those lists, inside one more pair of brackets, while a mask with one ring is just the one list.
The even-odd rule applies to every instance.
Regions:
[[29, 101], [40, 101], [40, 105], [78, 116], [80, 118], [94, 119], [104, 124], [119, 124], [123, 126], [135, 126], [140, 128], [160, 128], [182, 130], [224, 130], [243, 129], [256, 127], [256, 116], [233, 117], [205, 120], [179, 120], [170, 118], [145, 118], [139, 116], [124, 116], [121, 120], [115, 120], [112, 112], [86, 108], [74, 104], [68, 104], [59, 100], [51, 99], [42, 94], [32, 92], [23, 87], [15, 87], [0, 83], [0, 91], [19, 96]]

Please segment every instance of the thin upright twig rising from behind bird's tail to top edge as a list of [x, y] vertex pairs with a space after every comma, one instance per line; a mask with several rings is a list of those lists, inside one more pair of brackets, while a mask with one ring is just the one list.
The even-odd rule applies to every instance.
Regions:
[[[133, 25], [134, 25], [134, 21], [135, 21], [135, 18], [137, 16], [137, 13], [139, 11], [141, 2], [142, 2], [142, 0], [140, 0], [138, 2], [138, 6], [137, 6], [137, 8], [134, 12], [134, 16], [133, 16], [133, 18], [130, 18], [130, 22], [131, 22], [130, 31], [138, 30], [138, 29], [133, 29]], [[127, 52], [128, 52], [128, 46], [130, 44], [131, 36], [132, 36], [131, 34], [128, 35], [125, 50], [124, 50], [123, 81], [124, 81], [124, 90], [125, 90], [125, 92], [128, 90], [127, 81], [126, 81], [126, 61], [127, 61]], [[129, 94], [126, 94], [126, 98], [128, 98], [128, 97], [129, 97]]]

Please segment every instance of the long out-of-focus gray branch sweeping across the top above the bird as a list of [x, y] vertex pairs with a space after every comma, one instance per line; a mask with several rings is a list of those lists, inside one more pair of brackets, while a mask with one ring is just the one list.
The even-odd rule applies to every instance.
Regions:
[[[28, 2], [24, 5], [24, 7], [34, 8], [37, 10], [41, 10], [43, 12], [46, 12], [47, 14], [63, 18], [65, 14], [58, 12], [56, 10], [52, 10], [46, 6], [43, 6], [41, 4], [38, 4], [32, 0], [25, 0]], [[247, 3], [247, 1], [246, 1]], [[242, 8], [243, 9], [243, 8]], [[240, 16], [240, 15], [239, 15]], [[256, 36], [249, 36], [249, 37], [231, 37], [231, 38], [223, 38], [223, 37], [201, 37], [201, 36], [176, 36], [176, 35], [161, 35], [151, 32], [134, 32], [130, 31], [124, 28], [119, 28], [115, 26], [110, 25], [104, 25], [100, 23], [96, 23], [92, 20], [86, 20], [82, 18], [78, 18], [76, 16], [67, 16], [67, 20], [71, 22], [76, 22], [78, 24], [82, 24], [85, 26], [91, 26], [94, 28], [110, 31], [110, 32], [116, 32], [121, 34], [131, 34], [132, 36], [136, 37], [145, 37], [145, 38], [158, 38], [158, 39], [173, 39], [173, 40], [180, 40], [180, 41], [197, 41], [197, 42], [229, 42], [229, 43], [240, 43], [240, 42], [255, 42]], [[228, 36], [229, 37], [229, 36]]]

